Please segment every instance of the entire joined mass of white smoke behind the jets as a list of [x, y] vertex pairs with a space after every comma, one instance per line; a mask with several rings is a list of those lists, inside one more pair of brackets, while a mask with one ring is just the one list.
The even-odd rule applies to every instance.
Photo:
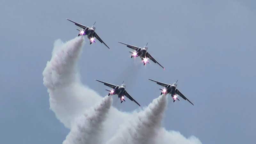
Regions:
[[129, 113], [111, 107], [110, 97], [102, 99], [84, 86], [77, 67], [83, 44], [82, 36], [66, 43], [56, 40], [52, 59], [43, 72], [50, 109], [70, 129], [63, 144], [201, 144], [194, 136], [187, 139], [179, 132], [161, 127], [167, 105], [165, 95], [153, 100], [144, 110]]

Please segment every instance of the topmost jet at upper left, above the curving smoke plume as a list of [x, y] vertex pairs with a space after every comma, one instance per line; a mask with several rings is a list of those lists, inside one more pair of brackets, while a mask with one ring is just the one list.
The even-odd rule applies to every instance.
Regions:
[[[67, 19], [67, 20], [69, 20], [69, 19]], [[92, 44], [92, 42], [96, 43], [95, 40], [94, 40], [94, 37], [97, 38], [101, 43], [105, 44], [105, 43], [102, 41], [102, 39], [101, 39], [101, 38], [96, 34], [96, 32], [95, 32], [96, 27], [95, 27], [94, 25], [95, 25], [96, 21], [94, 22], [94, 24], [92, 25], [91, 28], [90, 28], [90, 27], [87, 27], [87, 26], [84, 26], [84, 25], [82, 25], [82, 24], [79, 24], [79, 23], [77, 23], [77, 22], [75, 22], [75, 21], [73, 21], [73, 20], [69, 20], [69, 21], [75, 23], [76, 26], [82, 28], [81, 30], [76, 29], [76, 30], [79, 30], [79, 31], [80, 31], [80, 33], [78, 34], [78, 36], [85, 36], [85, 35], [87, 35], [87, 37], [88, 37], [89, 40], [90, 40], [90, 44]], [[107, 44], [105, 44], [105, 45], [108, 47]], [[109, 47], [108, 47], [108, 49], [109, 49]]]

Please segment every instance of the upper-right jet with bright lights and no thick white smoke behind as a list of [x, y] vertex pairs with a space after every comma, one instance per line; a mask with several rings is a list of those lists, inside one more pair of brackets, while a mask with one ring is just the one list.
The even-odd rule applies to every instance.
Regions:
[[143, 64], [145, 65], [146, 63], [149, 63], [148, 59], [152, 60], [153, 62], [157, 63], [160, 67], [164, 68], [160, 63], [158, 63], [148, 52], [148, 43], [143, 47], [137, 47], [137, 46], [133, 46], [133, 45], [130, 45], [130, 44], [125, 44], [123, 42], [118, 42], [118, 43], [121, 43], [121, 44], [124, 44], [126, 45], [127, 47], [131, 48], [134, 50], [134, 52], [130, 52], [132, 53], [131, 55], [131, 58], [132, 57], [140, 57]]

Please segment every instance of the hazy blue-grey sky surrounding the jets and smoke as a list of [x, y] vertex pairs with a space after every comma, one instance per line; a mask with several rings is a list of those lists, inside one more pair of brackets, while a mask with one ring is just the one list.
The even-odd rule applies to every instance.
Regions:
[[[88, 40], [79, 63], [85, 85], [105, 96], [100, 79], [126, 83], [142, 106], [160, 94], [148, 78], [173, 83], [191, 100], [169, 99], [164, 127], [204, 144], [252, 144], [256, 134], [255, 1], [2, 1], [0, 4], [0, 137], [2, 143], [62, 143], [69, 130], [49, 109], [42, 72], [56, 39], [77, 36], [66, 18], [87, 26], [110, 47]], [[122, 41], [148, 42], [166, 69], [131, 59]], [[141, 97], [142, 96], [142, 97]], [[115, 99], [115, 98], [114, 98]], [[137, 105], [113, 105], [133, 111]]]

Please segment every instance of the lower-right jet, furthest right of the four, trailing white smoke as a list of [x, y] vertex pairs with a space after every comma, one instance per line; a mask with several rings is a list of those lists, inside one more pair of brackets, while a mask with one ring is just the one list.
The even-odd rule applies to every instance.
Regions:
[[[174, 102], [175, 100], [179, 100], [179, 99], [177, 98], [177, 94], [178, 94], [180, 97], [182, 97], [184, 100], [188, 100], [188, 99], [177, 89], [177, 82], [178, 82], [178, 80], [176, 81], [176, 83], [173, 83], [172, 85], [171, 85], [171, 84], [164, 84], [164, 83], [161, 83], [161, 82], [152, 80], [152, 79], [149, 79], [149, 80], [151, 80], [151, 81], [153, 81], [153, 82], [156, 82], [156, 84], [159, 84], [159, 85], [163, 86], [164, 89], [160, 89], [160, 90], [162, 90], [161, 95], [162, 95], [162, 94], [171, 94], [172, 99], [173, 99], [173, 102]], [[179, 100], [179, 101], [180, 101], [180, 100]], [[188, 100], [188, 102], [190, 102], [190, 103], [194, 106], [194, 104], [193, 104], [190, 100]]]

